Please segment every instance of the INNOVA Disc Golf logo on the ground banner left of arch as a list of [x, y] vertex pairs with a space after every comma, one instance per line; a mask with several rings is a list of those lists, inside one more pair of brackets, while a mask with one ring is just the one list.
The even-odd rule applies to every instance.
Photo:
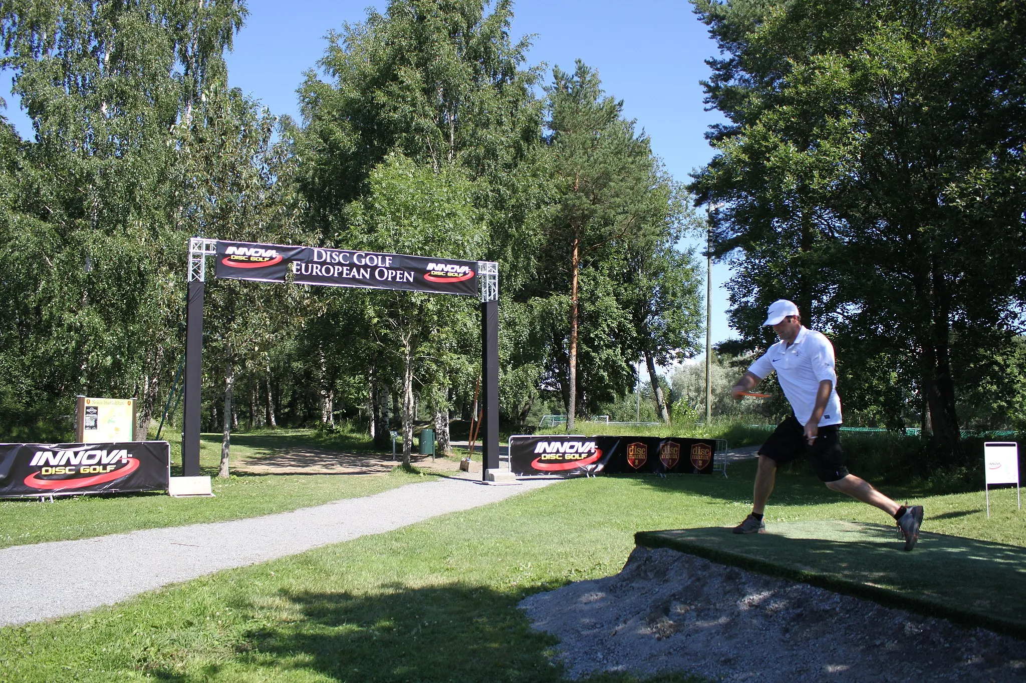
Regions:
[[139, 469], [140, 461], [124, 449], [88, 446], [70, 451], [37, 451], [30, 467], [39, 469], [25, 477], [25, 485], [38, 490], [85, 488], [116, 481]]

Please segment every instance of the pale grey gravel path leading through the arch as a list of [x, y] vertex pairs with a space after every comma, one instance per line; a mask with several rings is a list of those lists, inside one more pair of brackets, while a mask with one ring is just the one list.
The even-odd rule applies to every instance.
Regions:
[[[480, 476], [480, 475], [478, 475]], [[549, 481], [446, 478], [265, 517], [154, 528], [0, 550], [0, 627], [73, 614], [197, 577], [382, 533], [495, 503]], [[82, 580], [89, 590], [82, 590]]]

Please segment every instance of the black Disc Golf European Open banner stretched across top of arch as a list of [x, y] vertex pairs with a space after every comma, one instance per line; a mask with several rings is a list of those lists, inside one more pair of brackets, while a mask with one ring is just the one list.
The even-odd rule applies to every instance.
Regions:
[[218, 241], [218, 278], [477, 296], [477, 261]]

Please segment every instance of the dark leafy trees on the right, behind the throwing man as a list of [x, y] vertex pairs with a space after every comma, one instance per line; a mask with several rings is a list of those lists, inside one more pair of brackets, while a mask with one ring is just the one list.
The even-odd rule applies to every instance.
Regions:
[[994, 356], [1014, 357], [1026, 262], [1021, 13], [976, 0], [696, 7], [726, 53], [706, 90], [729, 123], [693, 188], [725, 203], [715, 250], [741, 255], [732, 350], [773, 341], [762, 310], [791, 298], [832, 334], [846, 405], [891, 426], [929, 415], [953, 457], [959, 396], [983, 408], [976, 386], [997, 403], [1018, 392]]

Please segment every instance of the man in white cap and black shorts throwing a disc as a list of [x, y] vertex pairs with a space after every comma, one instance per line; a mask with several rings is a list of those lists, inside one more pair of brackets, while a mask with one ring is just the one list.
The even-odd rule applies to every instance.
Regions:
[[802, 326], [798, 307], [786, 299], [771, 304], [762, 325], [773, 326], [780, 341], [751, 365], [732, 393], [740, 400], [776, 371], [793, 415], [780, 423], [759, 449], [752, 514], [735, 526], [734, 532], [765, 530], [762, 515], [777, 479], [777, 467], [807, 455], [816, 475], [828, 488], [847, 494], [894, 517], [905, 537], [905, 550], [912, 550], [919, 540], [922, 506], [898, 505], [844, 467], [839, 435], [840, 398], [830, 340]]

